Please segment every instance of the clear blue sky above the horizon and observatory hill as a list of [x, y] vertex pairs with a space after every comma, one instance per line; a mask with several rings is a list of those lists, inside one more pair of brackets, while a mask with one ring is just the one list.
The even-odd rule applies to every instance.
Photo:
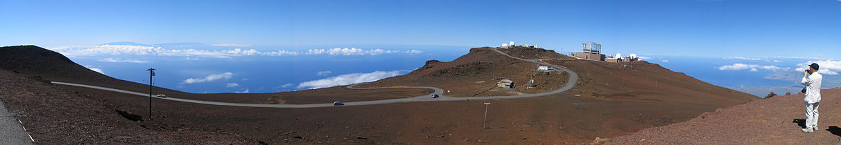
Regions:
[[0, 45], [498, 45], [838, 58], [841, 2], [0, 0]]

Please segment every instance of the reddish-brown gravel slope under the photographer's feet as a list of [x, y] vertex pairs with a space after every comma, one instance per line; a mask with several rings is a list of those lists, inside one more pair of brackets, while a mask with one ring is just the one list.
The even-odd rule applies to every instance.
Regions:
[[805, 127], [803, 94], [775, 96], [702, 114], [688, 122], [603, 140], [611, 144], [835, 144], [841, 137], [841, 89], [821, 91], [815, 132]]

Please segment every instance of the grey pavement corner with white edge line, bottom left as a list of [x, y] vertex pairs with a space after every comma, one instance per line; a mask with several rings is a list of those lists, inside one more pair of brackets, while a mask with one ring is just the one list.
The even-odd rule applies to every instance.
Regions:
[[0, 101], [0, 144], [32, 144], [29, 134]]

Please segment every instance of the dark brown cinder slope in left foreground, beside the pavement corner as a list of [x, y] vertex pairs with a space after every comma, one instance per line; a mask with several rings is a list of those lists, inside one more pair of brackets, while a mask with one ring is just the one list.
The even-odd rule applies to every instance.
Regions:
[[62, 89], [40, 76], [0, 70], [0, 78], [0, 100], [39, 144], [256, 143], [230, 132], [130, 121], [119, 115], [121, 105]]

